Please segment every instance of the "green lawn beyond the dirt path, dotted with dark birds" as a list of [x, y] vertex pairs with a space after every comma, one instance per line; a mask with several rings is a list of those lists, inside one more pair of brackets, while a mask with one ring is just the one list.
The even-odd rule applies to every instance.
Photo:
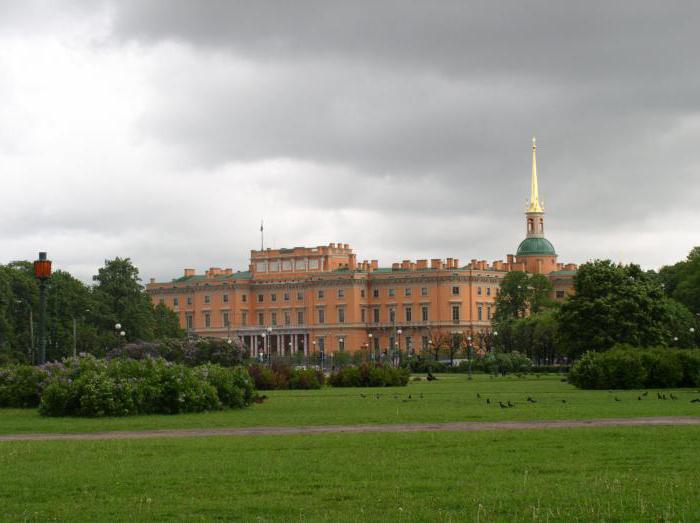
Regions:
[[[44, 418], [36, 410], [1, 409], [0, 433], [700, 416], [700, 403], [690, 403], [690, 399], [700, 397], [694, 390], [674, 391], [679, 398], [675, 401], [658, 400], [656, 391], [650, 391], [639, 401], [640, 391], [582, 391], [554, 375], [490, 378], [480, 374], [473, 381], [465, 375], [442, 375], [432, 383], [411, 382], [391, 389], [327, 388], [265, 394], [268, 401], [249, 409], [179, 416]], [[379, 399], [375, 394], [380, 394]], [[528, 403], [528, 396], [537, 403]], [[492, 400], [491, 405], [486, 404], [486, 398]], [[511, 400], [515, 407], [501, 409], [497, 400]]]

